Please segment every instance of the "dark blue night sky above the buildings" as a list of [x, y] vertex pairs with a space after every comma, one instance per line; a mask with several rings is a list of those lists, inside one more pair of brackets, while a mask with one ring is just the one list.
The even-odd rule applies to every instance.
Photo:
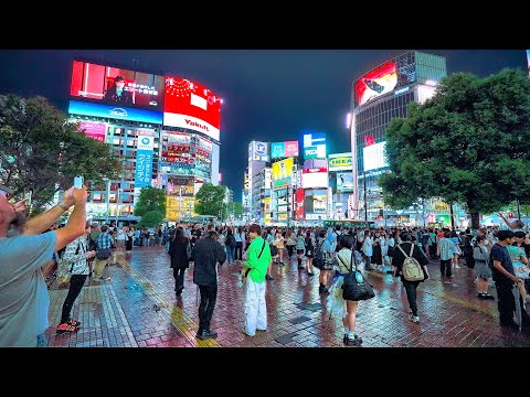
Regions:
[[[328, 153], [350, 151], [351, 84], [407, 50], [0, 50], [0, 94], [41, 95], [67, 111], [74, 57], [203, 84], [221, 110], [223, 184], [241, 201], [251, 140], [299, 140], [326, 132]], [[448, 73], [479, 76], [527, 68], [524, 50], [421, 50], [445, 56]], [[137, 61], [139, 60], [139, 61]]]

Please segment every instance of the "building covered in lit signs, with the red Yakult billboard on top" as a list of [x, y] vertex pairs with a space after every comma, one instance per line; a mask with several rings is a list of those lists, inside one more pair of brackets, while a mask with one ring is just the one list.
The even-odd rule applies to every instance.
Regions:
[[169, 75], [74, 61], [68, 120], [112, 144], [124, 165], [118, 180], [91, 189], [94, 219], [137, 221], [142, 187], [167, 193], [169, 221], [193, 214], [204, 183], [220, 183], [222, 99], [201, 84]]

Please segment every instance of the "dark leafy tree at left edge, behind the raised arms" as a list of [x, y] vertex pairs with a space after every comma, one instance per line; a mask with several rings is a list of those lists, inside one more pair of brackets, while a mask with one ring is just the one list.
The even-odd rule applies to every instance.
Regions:
[[43, 97], [0, 96], [0, 183], [41, 208], [75, 175], [102, 183], [123, 172], [109, 144], [78, 132], [78, 124]]

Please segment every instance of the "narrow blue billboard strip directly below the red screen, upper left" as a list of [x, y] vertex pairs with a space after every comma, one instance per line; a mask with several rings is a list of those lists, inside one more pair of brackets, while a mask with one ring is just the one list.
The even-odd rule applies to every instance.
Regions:
[[128, 107], [109, 106], [93, 103], [71, 100], [68, 112], [82, 116], [108, 117], [128, 121], [141, 121], [149, 124], [162, 124], [161, 111], [132, 109]]

